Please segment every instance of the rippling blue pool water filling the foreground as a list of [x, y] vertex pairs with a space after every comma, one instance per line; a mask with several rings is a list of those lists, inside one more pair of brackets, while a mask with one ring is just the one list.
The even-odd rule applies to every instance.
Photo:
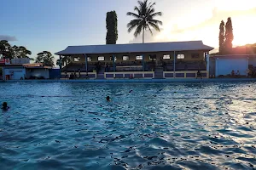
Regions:
[[255, 82], [0, 89], [0, 169], [256, 168]]

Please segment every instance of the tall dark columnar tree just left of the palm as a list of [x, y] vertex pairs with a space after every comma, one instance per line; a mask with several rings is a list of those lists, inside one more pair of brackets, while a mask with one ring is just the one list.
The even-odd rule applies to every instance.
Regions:
[[118, 20], [117, 14], [115, 11], [110, 11], [107, 13], [106, 18], [106, 28], [107, 28], [107, 36], [106, 36], [106, 44], [116, 44], [118, 39]]

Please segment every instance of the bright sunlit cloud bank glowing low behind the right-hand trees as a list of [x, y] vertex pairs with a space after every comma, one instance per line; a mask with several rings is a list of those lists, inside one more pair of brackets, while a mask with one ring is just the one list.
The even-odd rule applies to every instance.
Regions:
[[[231, 17], [233, 21], [235, 39], [238, 39], [238, 37], [241, 35], [241, 32], [239, 32], [241, 30], [241, 25], [245, 26], [245, 29], [249, 31], [246, 25], [249, 26], [250, 22], [246, 23], [246, 20], [250, 20], [249, 17], [252, 16], [256, 17], [255, 7], [243, 10], [221, 10], [219, 8], [212, 8], [212, 15], [207, 20], [201, 20], [198, 22], [198, 24], [189, 24], [189, 26], [183, 25], [184, 20], [193, 20], [188, 18], [189, 16], [184, 16], [184, 18], [178, 18], [179, 20], [177, 21], [171, 21], [170, 26], [164, 27], [161, 32], [154, 31], [153, 36], [150, 34], [150, 32], [146, 31], [145, 42], [202, 40], [207, 45], [216, 48], [218, 47], [218, 26], [221, 20], [226, 22], [227, 18]], [[254, 27], [256, 28], [256, 25], [251, 25], [251, 30]], [[143, 35], [139, 35], [138, 37], [133, 38], [130, 43], [142, 41]]]

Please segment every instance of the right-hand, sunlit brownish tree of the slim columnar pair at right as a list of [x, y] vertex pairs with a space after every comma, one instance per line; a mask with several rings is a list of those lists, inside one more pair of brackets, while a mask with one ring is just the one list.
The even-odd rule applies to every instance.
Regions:
[[227, 53], [230, 53], [230, 50], [233, 47], [234, 35], [233, 35], [233, 26], [231, 18], [229, 17], [226, 26], [225, 26], [225, 42], [224, 42], [224, 48]]

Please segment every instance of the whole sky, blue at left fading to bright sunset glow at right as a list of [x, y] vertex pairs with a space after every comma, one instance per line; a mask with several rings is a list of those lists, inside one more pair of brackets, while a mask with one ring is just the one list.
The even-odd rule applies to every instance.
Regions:
[[[150, 0], [149, 0], [150, 1]], [[152, 36], [146, 32], [145, 42], [202, 40], [218, 48], [221, 20], [231, 17], [234, 46], [256, 42], [255, 0], [152, 0], [163, 16], [161, 31]], [[36, 57], [41, 51], [55, 54], [69, 45], [105, 44], [106, 13], [118, 14], [117, 43], [142, 42], [142, 36], [128, 33], [137, 0], [8, 0], [1, 2], [0, 39], [22, 45]], [[55, 56], [57, 58], [57, 56]]]

